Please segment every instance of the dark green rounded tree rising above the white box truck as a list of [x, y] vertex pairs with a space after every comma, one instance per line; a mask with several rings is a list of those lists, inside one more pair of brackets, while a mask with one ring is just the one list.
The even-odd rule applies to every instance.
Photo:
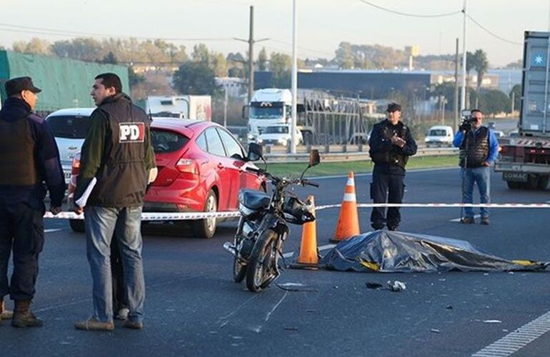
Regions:
[[214, 95], [218, 87], [214, 71], [202, 62], [186, 62], [174, 73], [172, 81], [179, 94]]

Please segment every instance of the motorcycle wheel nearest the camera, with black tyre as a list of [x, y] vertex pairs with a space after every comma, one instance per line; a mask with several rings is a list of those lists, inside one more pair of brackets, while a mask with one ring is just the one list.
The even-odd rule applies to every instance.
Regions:
[[279, 256], [275, 249], [277, 233], [268, 229], [258, 238], [250, 255], [249, 265], [246, 268], [246, 287], [250, 291], [258, 292], [267, 288], [276, 278], [273, 267], [276, 266]]

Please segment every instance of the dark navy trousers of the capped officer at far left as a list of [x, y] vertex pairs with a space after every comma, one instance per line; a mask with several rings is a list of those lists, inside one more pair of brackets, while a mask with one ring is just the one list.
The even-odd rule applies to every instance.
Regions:
[[[34, 298], [38, 257], [44, 247], [43, 211], [27, 203], [0, 204], [0, 297], [12, 300]], [[14, 252], [14, 271], [8, 282], [8, 265]]]

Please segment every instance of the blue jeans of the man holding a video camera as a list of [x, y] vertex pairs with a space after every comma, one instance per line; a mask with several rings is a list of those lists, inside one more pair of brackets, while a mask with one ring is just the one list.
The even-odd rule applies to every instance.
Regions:
[[[491, 168], [489, 166], [481, 166], [475, 168], [460, 170], [462, 178], [462, 202], [474, 203], [474, 183], [479, 190], [479, 201], [481, 203], [491, 202]], [[474, 208], [465, 207], [464, 213], [466, 217], [474, 216]], [[489, 209], [481, 207], [481, 218], [489, 218]]]

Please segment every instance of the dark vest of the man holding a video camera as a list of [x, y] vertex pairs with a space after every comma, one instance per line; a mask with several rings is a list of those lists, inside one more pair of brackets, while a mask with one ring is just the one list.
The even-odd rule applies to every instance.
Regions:
[[474, 131], [466, 131], [460, 145], [460, 166], [481, 167], [489, 157], [489, 128], [481, 126]]

